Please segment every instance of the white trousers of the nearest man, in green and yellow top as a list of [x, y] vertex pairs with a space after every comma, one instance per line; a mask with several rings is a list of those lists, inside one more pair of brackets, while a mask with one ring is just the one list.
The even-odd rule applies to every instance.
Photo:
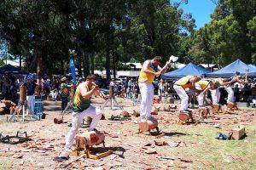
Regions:
[[102, 118], [102, 110], [90, 105], [90, 107], [85, 111], [72, 113], [72, 127], [69, 133], [67, 133], [65, 150], [71, 149], [74, 137], [78, 132], [81, 123], [83, 122], [84, 116], [90, 116], [92, 118], [92, 122], [90, 123], [90, 127], [88, 129], [88, 131], [92, 131]]

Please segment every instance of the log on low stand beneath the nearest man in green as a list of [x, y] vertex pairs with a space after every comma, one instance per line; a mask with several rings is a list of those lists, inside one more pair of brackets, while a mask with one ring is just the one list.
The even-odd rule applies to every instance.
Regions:
[[90, 146], [104, 143], [104, 139], [104, 133], [85, 132], [76, 136], [76, 148], [77, 150], [87, 150]]

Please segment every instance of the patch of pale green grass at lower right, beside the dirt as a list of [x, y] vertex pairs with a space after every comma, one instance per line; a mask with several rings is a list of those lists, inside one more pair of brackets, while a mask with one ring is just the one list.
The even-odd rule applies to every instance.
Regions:
[[[176, 147], [169, 151], [170, 156], [189, 157], [193, 160], [193, 169], [204, 167], [206, 169], [256, 169], [256, 125], [246, 126], [247, 137], [242, 140], [218, 140], [215, 137], [222, 129], [215, 127], [183, 127], [172, 126], [169, 130], [178, 129], [178, 133], [187, 135], [172, 136], [172, 141], [183, 141], [187, 147]], [[181, 130], [182, 129], [182, 130]], [[223, 132], [225, 133], [225, 132]], [[197, 144], [195, 146], [191, 145]], [[161, 150], [165, 152], [165, 150]], [[166, 153], [167, 154], [167, 153]], [[234, 160], [231, 156], [238, 155], [242, 162]], [[211, 162], [212, 167], [206, 167], [201, 160]], [[189, 165], [190, 167], [191, 165]]]

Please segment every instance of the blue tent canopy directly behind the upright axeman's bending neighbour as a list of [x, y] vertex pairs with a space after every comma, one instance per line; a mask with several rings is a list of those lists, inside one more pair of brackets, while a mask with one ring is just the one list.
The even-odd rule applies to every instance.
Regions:
[[188, 75], [195, 75], [195, 76], [204, 76], [206, 73], [210, 71], [207, 71], [204, 68], [201, 68], [200, 66], [197, 66], [193, 63], [189, 63], [189, 65], [184, 66], [183, 68], [177, 69], [175, 71], [167, 72], [162, 76], [163, 79], [170, 79], [170, 78], [181, 78]]

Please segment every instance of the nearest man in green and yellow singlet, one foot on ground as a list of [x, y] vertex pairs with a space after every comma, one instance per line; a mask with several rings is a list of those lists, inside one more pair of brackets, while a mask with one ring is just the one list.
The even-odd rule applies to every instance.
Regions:
[[[65, 145], [66, 151], [71, 151], [73, 140], [85, 116], [90, 116], [92, 118], [88, 131], [96, 131], [96, 125], [102, 117], [102, 110], [90, 105], [90, 98], [92, 95], [100, 95], [102, 98], [106, 98], [106, 96], [100, 92], [95, 81], [96, 76], [89, 75], [86, 77], [85, 82], [80, 83], [76, 89], [73, 98], [72, 127], [67, 134]], [[68, 157], [67, 152], [66, 156]]]

